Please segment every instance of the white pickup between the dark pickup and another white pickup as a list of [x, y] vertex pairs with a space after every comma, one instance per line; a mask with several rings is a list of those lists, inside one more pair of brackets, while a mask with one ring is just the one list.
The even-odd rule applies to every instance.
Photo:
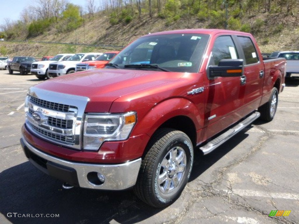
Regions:
[[57, 54], [48, 61], [33, 62], [31, 64], [31, 74], [35, 75], [38, 79], [49, 79], [48, 67], [52, 62], [60, 62], [69, 59], [74, 54]]

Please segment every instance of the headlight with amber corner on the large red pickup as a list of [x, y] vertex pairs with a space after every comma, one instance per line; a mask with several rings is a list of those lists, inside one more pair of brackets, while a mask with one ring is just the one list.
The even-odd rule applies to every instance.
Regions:
[[129, 137], [136, 113], [89, 113], [84, 120], [83, 149], [98, 150], [104, 141], [120, 141]]

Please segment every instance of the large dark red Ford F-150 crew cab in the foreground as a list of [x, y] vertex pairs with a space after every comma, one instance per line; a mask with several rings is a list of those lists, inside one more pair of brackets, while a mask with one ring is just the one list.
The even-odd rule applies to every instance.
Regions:
[[152, 33], [104, 69], [31, 87], [21, 145], [64, 188], [133, 187], [165, 207], [187, 184], [193, 150], [207, 154], [258, 117], [273, 119], [285, 65], [264, 60], [249, 33]]

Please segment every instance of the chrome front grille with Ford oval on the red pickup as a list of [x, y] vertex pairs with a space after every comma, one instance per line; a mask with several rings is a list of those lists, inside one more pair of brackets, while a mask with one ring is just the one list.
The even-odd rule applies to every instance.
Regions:
[[26, 126], [36, 136], [77, 150], [89, 99], [31, 87], [25, 101]]

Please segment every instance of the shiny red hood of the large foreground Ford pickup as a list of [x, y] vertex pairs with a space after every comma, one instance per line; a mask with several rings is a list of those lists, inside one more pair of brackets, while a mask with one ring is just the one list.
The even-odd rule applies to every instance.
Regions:
[[96, 69], [49, 79], [35, 87], [57, 93], [86, 96], [90, 99], [89, 104], [97, 104], [97, 112], [109, 112], [115, 99], [175, 81], [183, 74], [143, 70]]

